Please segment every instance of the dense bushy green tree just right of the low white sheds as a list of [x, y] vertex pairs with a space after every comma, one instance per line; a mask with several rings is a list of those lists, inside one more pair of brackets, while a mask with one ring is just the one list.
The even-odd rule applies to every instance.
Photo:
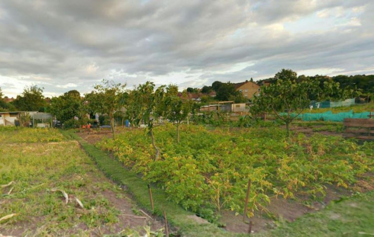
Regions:
[[83, 100], [77, 90], [70, 90], [58, 97], [52, 97], [48, 112], [56, 116], [61, 123], [74, 118], [82, 117]]

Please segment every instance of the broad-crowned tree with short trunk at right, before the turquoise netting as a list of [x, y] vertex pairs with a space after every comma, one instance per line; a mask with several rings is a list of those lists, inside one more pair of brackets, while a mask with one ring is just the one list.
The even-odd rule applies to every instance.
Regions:
[[[310, 94], [319, 89], [317, 81], [305, 80], [296, 83], [297, 74], [283, 69], [275, 75], [275, 83], [262, 86], [259, 96], [253, 99], [252, 113], [274, 113], [286, 124], [286, 136], [290, 136], [290, 123], [310, 105]], [[286, 113], [283, 113], [286, 112]]]

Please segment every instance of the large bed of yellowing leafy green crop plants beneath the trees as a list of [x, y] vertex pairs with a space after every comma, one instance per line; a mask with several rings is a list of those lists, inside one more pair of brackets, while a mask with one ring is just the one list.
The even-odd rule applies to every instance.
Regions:
[[164, 188], [168, 198], [194, 212], [207, 207], [243, 211], [248, 179], [252, 180], [250, 212], [264, 209], [269, 196], [321, 197], [324, 185], [348, 187], [371, 171], [374, 144], [358, 146], [340, 137], [302, 134], [285, 140], [278, 128], [238, 131], [181, 126], [176, 144], [170, 125], [155, 130], [162, 159], [143, 130], [130, 130], [98, 146], [109, 150], [143, 179]]

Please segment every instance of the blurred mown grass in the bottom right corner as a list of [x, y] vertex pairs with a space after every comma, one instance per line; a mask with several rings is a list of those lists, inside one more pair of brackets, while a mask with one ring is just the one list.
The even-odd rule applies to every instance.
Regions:
[[374, 192], [332, 202], [325, 209], [256, 236], [374, 235]]

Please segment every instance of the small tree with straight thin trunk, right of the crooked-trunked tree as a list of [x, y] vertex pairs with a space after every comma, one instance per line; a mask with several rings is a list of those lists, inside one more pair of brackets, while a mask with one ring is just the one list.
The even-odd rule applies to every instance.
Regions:
[[[178, 87], [177, 87], [178, 88]], [[177, 96], [177, 93], [173, 93], [173, 86], [169, 85], [166, 88], [165, 97], [165, 111], [166, 118], [177, 125], [177, 143], [179, 143], [179, 126], [181, 121], [186, 119], [191, 111], [191, 104], [189, 101], [184, 101], [182, 98]], [[177, 90], [178, 91], [178, 90]]]

